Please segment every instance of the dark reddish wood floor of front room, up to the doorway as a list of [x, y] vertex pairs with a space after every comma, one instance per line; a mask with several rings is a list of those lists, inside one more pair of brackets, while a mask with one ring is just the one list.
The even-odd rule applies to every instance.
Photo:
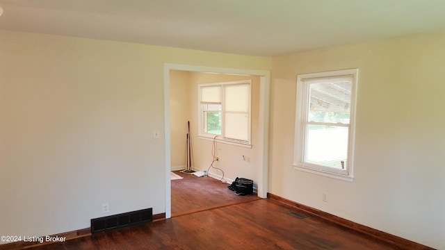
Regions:
[[292, 210], [259, 199], [38, 249], [397, 249]]

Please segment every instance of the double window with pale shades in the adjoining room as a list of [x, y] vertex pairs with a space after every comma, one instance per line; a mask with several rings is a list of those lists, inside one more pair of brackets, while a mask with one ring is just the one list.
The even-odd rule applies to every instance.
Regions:
[[250, 88], [250, 80], [198, 85], [200, 137], [250, 145]]

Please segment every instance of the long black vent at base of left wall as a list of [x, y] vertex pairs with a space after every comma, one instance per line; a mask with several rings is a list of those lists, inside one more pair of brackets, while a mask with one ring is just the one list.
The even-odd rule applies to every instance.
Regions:
[[91, 233], [99, 233], [113, 228], [133, 226], [153, 221], [153, 209], [147, 208], [119, 215], [91, 219]]

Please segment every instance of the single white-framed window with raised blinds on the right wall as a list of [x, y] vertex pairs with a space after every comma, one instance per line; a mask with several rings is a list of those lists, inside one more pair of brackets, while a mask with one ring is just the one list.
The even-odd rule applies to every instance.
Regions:
[[297, 78], [296, 169], [352, 181], [357, 69]]

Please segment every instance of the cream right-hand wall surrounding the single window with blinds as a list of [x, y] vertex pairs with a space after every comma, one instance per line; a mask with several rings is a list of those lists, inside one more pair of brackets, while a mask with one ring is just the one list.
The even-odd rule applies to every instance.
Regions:
[[[437, 32], [273, 58], [269, 192], [445, 249], [444, 44]], [[293, 169], [296, 76], [350, 68], [359, 69], [353, 182]]]

